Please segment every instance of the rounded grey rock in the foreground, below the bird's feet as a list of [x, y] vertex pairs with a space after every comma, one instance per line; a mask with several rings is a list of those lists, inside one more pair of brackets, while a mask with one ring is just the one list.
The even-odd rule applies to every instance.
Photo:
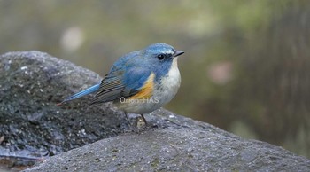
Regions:
[[[191, 125], [192, 124], [192, 125]], [[244, 140], [213, 126], [145, 131], [106, 138], [26, 171], [306, 171], [310, 160]]]

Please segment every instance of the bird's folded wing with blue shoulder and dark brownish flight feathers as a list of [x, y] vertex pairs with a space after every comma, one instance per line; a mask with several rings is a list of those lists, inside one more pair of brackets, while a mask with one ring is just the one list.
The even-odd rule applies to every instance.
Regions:
[[114, 68], [105, 75], [91, 104], [105, 103], [122, 97], [129, 98], [139, 92], [141, 94], [142, 91], [144, 94], [147, 91], [146, 96], [150, 96], [153, 84], [148, 84], [145, 88], [145, 83], [153, 82], [150, 80], [151, 75], [153, 75], [151, 70], [145, 67], [128, 67], [126, 70], [122, 67]]

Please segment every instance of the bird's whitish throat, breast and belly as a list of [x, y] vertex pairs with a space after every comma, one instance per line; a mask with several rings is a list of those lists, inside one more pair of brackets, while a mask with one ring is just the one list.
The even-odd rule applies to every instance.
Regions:
[[160, 83], [154, 85], [151, 98], [120, 99], [120, 102], [114, 103], [114, 105], [126, 113], [151, 113], [170, 102], [180, 84], [181, 75], [177, 67], [177, 58], [174, 58], [168, 74], [162, 77]]

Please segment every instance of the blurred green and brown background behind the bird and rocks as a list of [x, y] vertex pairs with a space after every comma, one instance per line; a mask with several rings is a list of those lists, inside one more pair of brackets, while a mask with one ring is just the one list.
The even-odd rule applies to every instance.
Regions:
[[186, 51], [167, 109], [310, 158], [310, 1], [0, 0], [0, 53], [45, 51], [104, 76], [151, 43]]

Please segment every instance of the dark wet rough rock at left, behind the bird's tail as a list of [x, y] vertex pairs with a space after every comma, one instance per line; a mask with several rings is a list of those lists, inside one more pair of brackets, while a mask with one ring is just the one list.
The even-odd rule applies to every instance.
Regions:
[[87, 69], [39, 51], [0, 56], [0, 155], [54, 155], [128, 129], [124, 116], [110, 106], [88, 107], [91, 97], [56, 106], [100, 80]]

